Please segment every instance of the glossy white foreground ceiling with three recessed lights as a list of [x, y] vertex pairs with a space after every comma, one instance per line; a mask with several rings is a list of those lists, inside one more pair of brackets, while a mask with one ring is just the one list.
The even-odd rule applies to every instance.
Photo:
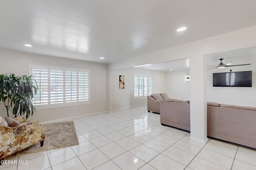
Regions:
[[256, 25], [255, 7], [256, 0], [2, 0], [0, 49], [111, 63]]

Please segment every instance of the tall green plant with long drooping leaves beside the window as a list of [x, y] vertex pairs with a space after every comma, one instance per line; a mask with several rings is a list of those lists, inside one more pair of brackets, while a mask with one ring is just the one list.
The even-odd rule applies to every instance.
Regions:
[[4, 103], [7, 116], [12, 107], [14, 117], [26, 114], [26, 119], [35, 111], [32, 99], [38, 92], [38, 84], [33, 75], [16, 76], [0, 74], [0, 100]]

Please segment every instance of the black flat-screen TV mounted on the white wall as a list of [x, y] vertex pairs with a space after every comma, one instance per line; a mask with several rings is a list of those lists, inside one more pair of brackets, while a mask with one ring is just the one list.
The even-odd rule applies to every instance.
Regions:
[[252, 71], [212, 73], [214, 87], [252, 87]]

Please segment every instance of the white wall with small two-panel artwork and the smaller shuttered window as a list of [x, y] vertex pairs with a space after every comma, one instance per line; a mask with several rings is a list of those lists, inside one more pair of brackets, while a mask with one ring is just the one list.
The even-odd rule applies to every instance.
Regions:
[[[165, 91], [164, 72], [140, 68], [111, 71], [112, 110], [147, 104], [147, 98], [133, 98], [134, 74], [152, 76], [152, 93], [162, 93]], [[124, 89], [119, 89], [119, 75], [124, 75]]]

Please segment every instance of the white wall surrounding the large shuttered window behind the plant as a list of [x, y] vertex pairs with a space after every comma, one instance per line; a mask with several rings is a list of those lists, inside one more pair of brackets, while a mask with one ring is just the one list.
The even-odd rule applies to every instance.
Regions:
[[[42, 122], [107, 111], [107, 64], [7, 50], [0, 50], [0, 61], [0, 74], [11, 72], [16, 75], [28, 75], [29, 64], [90, 69], [90, 104], [71, 107], [59, 107], [54, 109], [37, 109], [33, 117], [29, 118], [29, 120], [37, 120]], [[64, 114], [60, 114], [60, 110], [63, 110]], [[2, 104], [2, 102], [0, 104], [0, 115], [2, 117], [7, 115], [4, 104]]]

